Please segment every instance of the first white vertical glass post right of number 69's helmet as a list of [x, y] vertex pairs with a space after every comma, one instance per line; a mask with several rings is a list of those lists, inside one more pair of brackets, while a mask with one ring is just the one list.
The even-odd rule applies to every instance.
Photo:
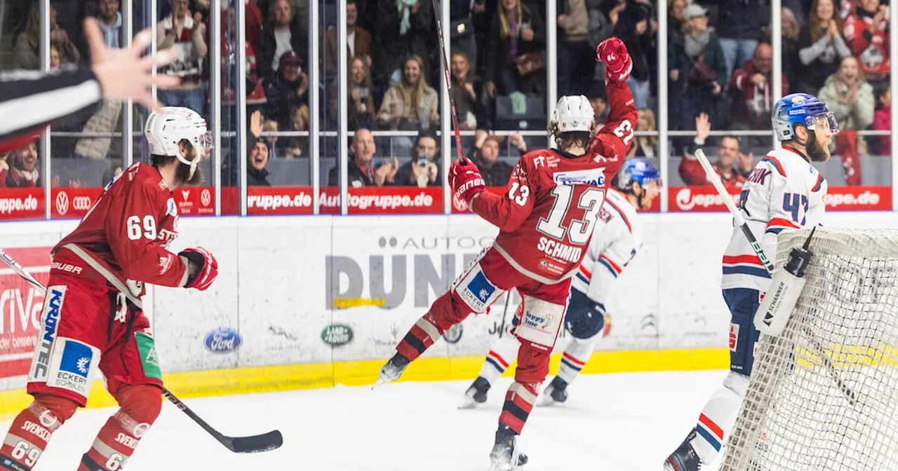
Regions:
[[[227, 0], [225, 0], [226, 2]], [[212, 0], [209, 5], [209, 104], [212, 114], [212, 179], [215, 179], [216, 216], [222, 214], [222, 0]], [[231, 9], [224, 10], [229, 19]]]

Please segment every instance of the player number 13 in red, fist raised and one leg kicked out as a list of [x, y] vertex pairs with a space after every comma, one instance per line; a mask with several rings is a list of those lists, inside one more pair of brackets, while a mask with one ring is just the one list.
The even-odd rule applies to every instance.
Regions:
[[[621, 168], [637, 120], [625, 82], [632, 67], [620, 39], [603, 41], [597, 60], [606, 64], [610, 113], [594, 135], [594, 111], [584, 96], [561, 97], [549, 133], [560, 151], [541, 150], [518, 161], [507, 191], [484, 191], [480, 172], [471, 161], [454, 161], [449, 183], [455, 197], [499, 228], [496, 242], [468, 266], [430, 310], [411, 327], [383, 365], [378, 384], [398, 379], [402, 371], [446, 329], [471, 313], [487, 312], [503, 293], [517, 288], [524, 308], [513, 320], [521, 340], [515, 382], [508, 388], [499, 416], [491, 469], [521, 467], [527, 458], [516, 437], [533, 409], [549, 355], [568, 303], [571, 276], [577, 273], [602, 208], [605, 188]], [[594, 136], [593, 136], [594, 135]]]

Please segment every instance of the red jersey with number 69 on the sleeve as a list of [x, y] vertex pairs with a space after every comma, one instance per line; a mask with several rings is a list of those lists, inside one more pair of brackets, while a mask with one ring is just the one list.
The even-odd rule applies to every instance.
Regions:
[[54, 262], [80, 266], [80, 275], [98, 274], [113, 285], [118, 280], [135, 296], [143, 283], [183, 286], [187, 266], [167, 249], [178, 237], [177, 224], [172, 190], [159, 170], [138, 162], [106, 186], [75, 231], [53, 248]]

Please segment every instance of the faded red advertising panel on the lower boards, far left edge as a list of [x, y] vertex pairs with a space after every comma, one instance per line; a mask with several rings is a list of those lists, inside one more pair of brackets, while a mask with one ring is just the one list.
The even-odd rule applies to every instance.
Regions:
[[[47, 283], [52, 247], [5, 249], [31, 275]], [[0, 269], [0, 378], [28, 374], [34, 345], [40, 335], [40, 312], [44, 295], [16, 275]]]

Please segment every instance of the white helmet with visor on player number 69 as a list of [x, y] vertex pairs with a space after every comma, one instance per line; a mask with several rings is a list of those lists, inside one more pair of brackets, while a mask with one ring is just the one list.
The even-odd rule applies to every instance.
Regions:
[[[197, 170], [203, 151], [212, 148], [212, 133], [206, 128], [206, 120], [189, 108], [164, 107], [150, 113], [144, 135], [150, 144], [150, 154], [177, 157], [190, 166], [190, 178]], [[182, 139], [187, 139], [197, 149], [192, 161], [180, 154]]]

